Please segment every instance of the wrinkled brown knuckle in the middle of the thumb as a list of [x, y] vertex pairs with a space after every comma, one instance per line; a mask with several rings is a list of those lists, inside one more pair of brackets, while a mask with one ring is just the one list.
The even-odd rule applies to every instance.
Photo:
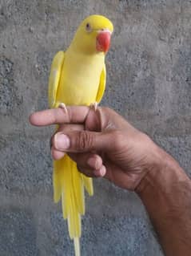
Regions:
[[90, 132], [78, 132], [76, 144], [78, 150], [90, 150], [94, 148], [94, 136]]

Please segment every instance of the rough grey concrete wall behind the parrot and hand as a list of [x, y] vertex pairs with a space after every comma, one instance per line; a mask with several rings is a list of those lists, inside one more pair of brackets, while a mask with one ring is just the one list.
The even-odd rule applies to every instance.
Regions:
[[[152, 136], [191, 174], [191, 2], [0, 0], [0, 255], [74, 255], [52, 201], [52, 128], [28, 116], [46, 108], [51, 60], [78, 23], [105, 14], [115, 26], [102, 104]], [[82, 255], [161, 256], [141, 201], [101, 179], [86, 198]]]

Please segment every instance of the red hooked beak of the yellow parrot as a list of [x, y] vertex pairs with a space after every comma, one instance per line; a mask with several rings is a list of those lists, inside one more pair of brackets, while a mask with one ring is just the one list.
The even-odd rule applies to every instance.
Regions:
[[96, 50], [107, 52], [110, 46], [111, 31], [99, 30], [96, 37]]

